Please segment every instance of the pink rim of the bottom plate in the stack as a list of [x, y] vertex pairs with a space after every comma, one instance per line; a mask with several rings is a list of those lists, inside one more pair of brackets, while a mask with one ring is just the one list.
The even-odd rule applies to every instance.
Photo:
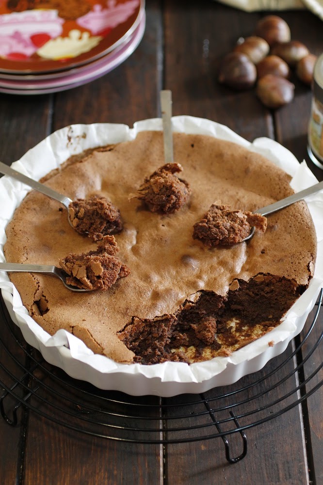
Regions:
[[[48, 75], [48, 79], [38, 80], [36, 76], [32, 79], [25, 79], [25, 76], [20, 76], [23, 79], [6, 80], [0, 77], [0, 92], [7, 94], [46, 94], [57, 91], [64, 91], [73, 87], [80, 86], [90, 81], [104, 76], [108, 72], [115, 69], [118, 65], [124, 62], [138, 47], [145, 32], [145, 12], [142, 19], [127, 41], [122, 45], [121, 49], [115, 49], [106, 56], [97, 59], [89, 65], [82, 65], [65, 71], [61, 76], [57, 73], [53, 77]], [[67, 74], [66, 74], [67, 72]]]

